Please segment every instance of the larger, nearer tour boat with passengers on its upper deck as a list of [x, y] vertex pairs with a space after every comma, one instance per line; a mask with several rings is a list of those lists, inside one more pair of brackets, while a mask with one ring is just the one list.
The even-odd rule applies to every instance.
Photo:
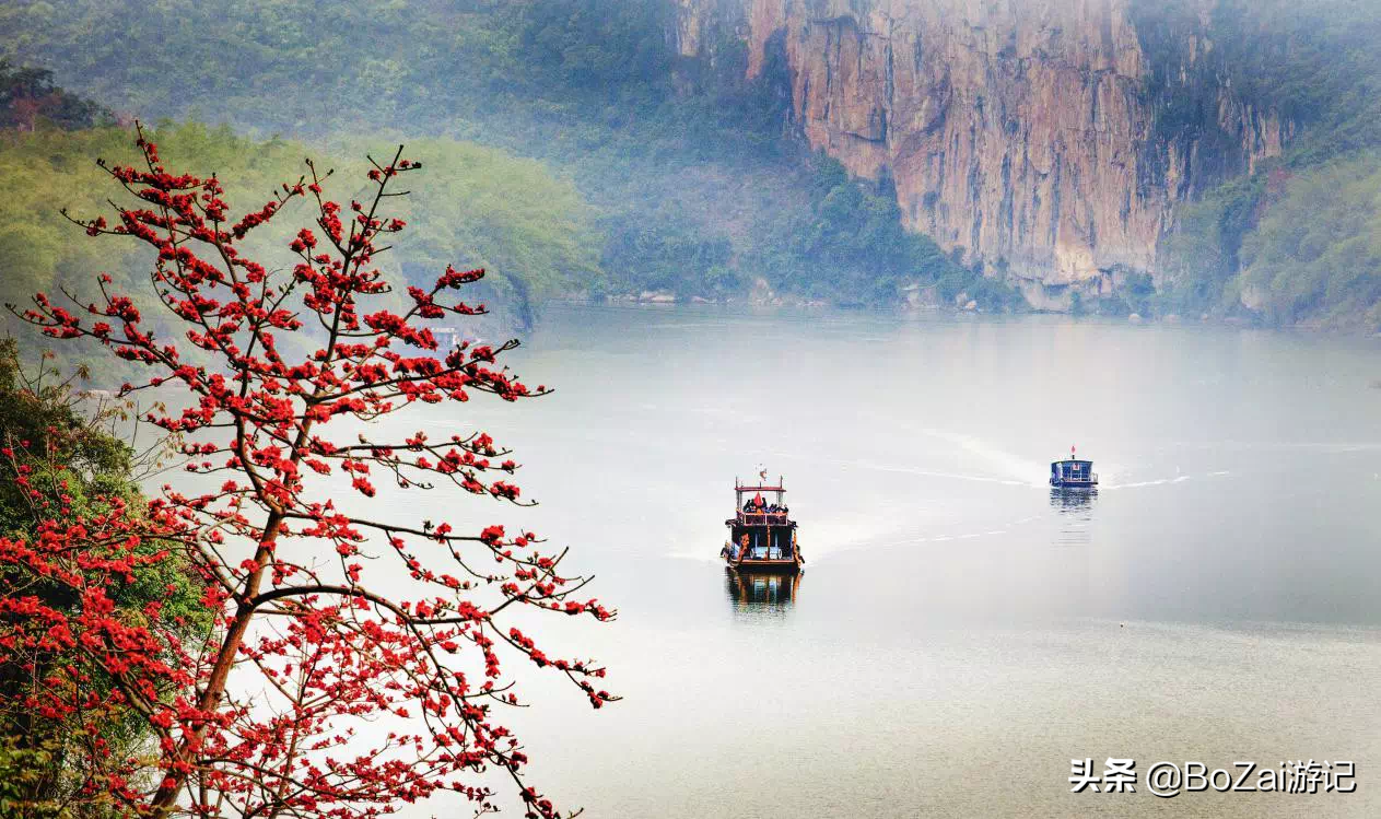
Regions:
[[720, 557], [739, 572], [794, 573], [801, 570], [801, 548], [795, 543], [795, 521], [786, 507], [786, 489], [762, 482], [754, 486], [733, 479], [735, 517], [725, 521], [729, 540]]

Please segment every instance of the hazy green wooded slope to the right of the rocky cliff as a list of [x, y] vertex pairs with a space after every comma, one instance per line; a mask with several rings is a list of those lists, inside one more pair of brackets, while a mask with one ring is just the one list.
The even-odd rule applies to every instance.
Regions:
[[[1224, 0], [1188, 77], [1197, 3], [1143, 6], [1163, 138], [1201, 139], [1203, 156], [1240, 152], [1224, 134], [1214, 88], [1226, 79], [1258, 112], [1295, 123], [1284, 156], [1229, 178], [1177, 211], [1161, 258], [1164, 311], [1272, 323], [1381, 329], [1375, 167], [1381, 163], [1381, 15], [1363, 0]], [[1172, 137], [1174, 135], [1174, 137]], [[1224, 168], [1206, 163], [1204, 178]]]

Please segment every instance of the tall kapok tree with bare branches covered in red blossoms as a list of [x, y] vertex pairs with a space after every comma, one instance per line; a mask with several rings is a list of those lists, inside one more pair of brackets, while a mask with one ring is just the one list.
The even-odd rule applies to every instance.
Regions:
[[[438, 791], [487, 811], [499, 776], [516, 783], [528, 815], [557, 816], [525, 783], [526, 755], [496, 721], [497, 707], [519, 704], [501, 653], [563, 675], [594, 707], [616, 697], [598, 688], [602, 667], [548, 657], [510, 616], [612, 612], [574, 599], [587, 579], [566, 576], [565, 551], [545, 554], [530, 532], [465, 532], [362, 503], [380, 476], [406, 490], [528, 503], [510, 482], [518, 464], [489, 435], [380, 439], [398, 428], [380, 421], [418, 403], [548, 392], [499, 365], [516, 341], [441, 349], [428, 329], [483, 312], [450, 297], [483, 271], [447, 268], [429, 287], [407, 287], [405, 308], [387, 307], [400, 294], [376, 258], [405, 225], [383, 211], [405, 195], [391, 189], [398, 177], [420, 166], [402, 146], [392, 160], [370, 157], [370, 195], [341, 206], [325, 191], [331, 173], [308, 160], [271, 202], [232, 218], [215, 177], [167, 171], [142, 130], [137, 145], [138, 167], [99, 163], [137, 202], [115, 204], [113, 222], [69, 218], [91, 236], [156, 251], [151, 285], [178, 337], [156, 337], [106, 275], [94, 300], [39, 294], [21, 315], [52, 338], [95, 341], [146, 369], [123, 392], [159, 388], [173, 409], [146, 420], [181, 436], [197, 475], [189, 483], [211, 489], [166, 486], [138, 518], [112, 507], [4, 544], [0, 561], [66, 584], [83, 605], [64, 612], [18, 595], [0, 623], [0, 655], [57, 639], [80, 662], [35, 688], [36, 707], [72, 718], [108, 697], [142, 715], [157, 773], [102, 761], [106, 775], [90, 784], [130, 813], [373, 816]], [[297, 199], [311, 203], [315, 225], [291, 239], [290, 271], [242, 254], [243, 239]], [[312, 352], [293, 358], [294, 348]], [[204, 644], [180, 641], [156, 605], [138, 619], [113, 613], [109, 599], [138, 561], [164, 554], [135, 550], [148, 540], [185, 550], [200, 577], [215, 617]], [[377, 552], [400, 561], [407, 594], [370, 583]], [[101, 695], [95, 677], [109, 680]]]

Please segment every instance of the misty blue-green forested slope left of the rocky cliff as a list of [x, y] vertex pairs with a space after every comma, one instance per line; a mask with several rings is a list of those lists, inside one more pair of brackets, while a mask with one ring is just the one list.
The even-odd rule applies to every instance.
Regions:
[[[532, 254], [504, 257], [508, 293], [526, 304], [577, 289], [742, 297], [758, 279], [841, 304], [894, 304], [906, 283], [1019, 304], [895, 218], [884, 225], [899, 215], [885, 182], [849, 181], [783, 138], [780, 54], [747, 80], [742, 39], [711, 28], [703, 57], [684, 58], [668, 41], [674, 15], [667, 0], [19, 0], [0, 8], [0, 55], [145, 119], [291, 134], [338, 156], [352, 156], [362, 123], [381, 123], [370, 144], [445, 134], [541, 160], [592, 206], [570, 217], [576, 235], [602, 239], [584, 244], [592, 257], [569, 247], [541, 269]], [[526, 184], [512, 181], [510, 193]]]

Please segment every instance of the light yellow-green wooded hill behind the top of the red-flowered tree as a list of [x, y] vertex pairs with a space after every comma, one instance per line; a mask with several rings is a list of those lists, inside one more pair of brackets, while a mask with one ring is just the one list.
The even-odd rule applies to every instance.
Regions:
[[[226, 193], [242, 210], [261, 206], [278, 182], [298, 178], [302, 159], [313, 153], [320, 167], [336, 168], [331, 192], [348, 200], [362, 189], [365, 153], [394, 146], [387, 139], [340, 142], [331, 149], [349, 157], [341, 162], [297, 142], [236, 137], [228, 126], [163, 124], [151, 137], [170, 160], [233, 180]], [[490, 272], [487, 296], [497, 296], [519, 322], [529, 318], [532, 304], [587, 286], [597, 276], [599, 236], [591, 209], [569, 181], [554, 178], [541, 163], [438, 138], [413, 141], [407, 153], [428, 170], [413, 195], [399, 203], [417, 238], [405, 275], [424, 280], [449, 262], [485, 267]], [[131, 278], [148, 275], [152, 261], [137, 243], [88, 240], [61, 217], [62, 209], [86, 215], [108, 210], [98, 193], [106, 186], [97, 157], [131, 162], [130, 131], [0, 131], [0, 220], [6, 224], [0, 233], [0, 302], [22, 305], [35, 291], [62, 287], [83, 293], [97, 272], [109, 272], [116, 286], [127, 290], [146, 290], [128, 287]], [[284, 235], [301, 227], [300, 218], [302, 214], [286, 211], [278, 233], [271, 235], [278, 242], [261, 242], [253, 250], [289, 264]], [[400, 261], [387, 254], [380, 258], [384, 265]]]

